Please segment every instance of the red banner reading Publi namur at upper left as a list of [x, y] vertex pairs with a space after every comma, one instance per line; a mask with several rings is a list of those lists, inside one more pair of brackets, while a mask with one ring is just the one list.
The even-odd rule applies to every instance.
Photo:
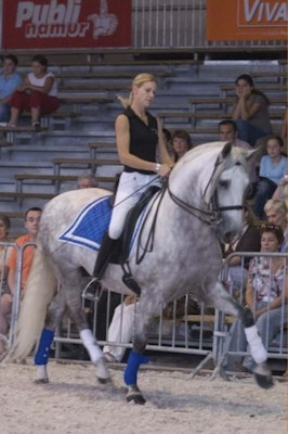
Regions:
[[130, 44], [131, 0], [4, 0], [5, 49]]

